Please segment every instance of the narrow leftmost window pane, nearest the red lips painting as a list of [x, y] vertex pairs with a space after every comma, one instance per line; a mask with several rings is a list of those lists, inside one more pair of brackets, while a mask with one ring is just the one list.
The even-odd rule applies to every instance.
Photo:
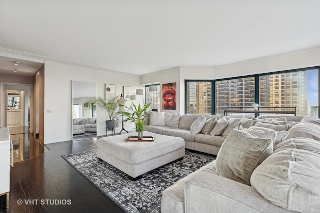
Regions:
[[186, 82], [186, 113], [211, 115], [211, 81]]

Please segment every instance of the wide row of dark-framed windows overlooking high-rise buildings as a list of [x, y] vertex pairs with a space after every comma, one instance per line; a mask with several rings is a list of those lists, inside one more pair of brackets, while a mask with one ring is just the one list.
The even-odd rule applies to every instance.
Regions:
[[319, 81], [319, 67], [209, 81], [185, 80], [185, 113], [223, 115], [226, 108], [252, 110], [252, 104], [258, 103], [261, 110], [295, 108], [296, 115], [319, 117]]

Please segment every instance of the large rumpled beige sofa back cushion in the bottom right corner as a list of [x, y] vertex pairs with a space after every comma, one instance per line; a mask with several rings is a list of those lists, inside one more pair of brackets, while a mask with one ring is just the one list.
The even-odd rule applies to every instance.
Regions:
[[251, 175], [251, 186], [266, 200], [289, 211], [318, 213], [320, 209], [320, 143], [292, 138]]

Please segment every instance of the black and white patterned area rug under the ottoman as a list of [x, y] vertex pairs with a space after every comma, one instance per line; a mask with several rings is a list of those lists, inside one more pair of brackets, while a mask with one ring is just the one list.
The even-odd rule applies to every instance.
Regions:
[[213, 155], [185, 151], [178, 160], [131, 181], [125, 173], [98, 161], [96, 150], [62, 156], [73, 168], [127, 213], [159, 213], [162, 191], [214, 160]]

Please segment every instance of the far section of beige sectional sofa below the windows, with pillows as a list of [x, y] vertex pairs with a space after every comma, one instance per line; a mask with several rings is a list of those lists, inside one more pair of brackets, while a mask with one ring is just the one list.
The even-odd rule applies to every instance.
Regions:
[[252, 118], [231, 118], [215, 115], [180, 115], [164, 112], [147, 112], [146, 131], [181, 137], [185, 148], [217, 155], [232, 128], [251, 125]]

